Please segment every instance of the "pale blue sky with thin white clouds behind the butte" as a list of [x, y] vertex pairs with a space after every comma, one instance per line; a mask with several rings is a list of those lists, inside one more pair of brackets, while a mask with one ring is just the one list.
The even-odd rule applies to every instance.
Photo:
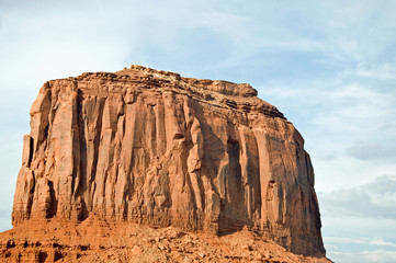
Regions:
[[335, 262], [396, 262], [396, 1], [0, 0], [0, 231], [50, 79], [129, 65], [250, 83], [305, 138]]

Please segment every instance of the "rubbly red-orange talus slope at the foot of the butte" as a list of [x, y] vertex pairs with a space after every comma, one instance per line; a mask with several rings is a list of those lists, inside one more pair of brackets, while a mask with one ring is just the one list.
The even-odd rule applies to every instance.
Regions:
[[113, 224], [92, 216], [81, 224], [20, 224], [0, 235], [0, 262], [329, 263], [326, 258], [287, 252], [248, 230], [219, 237], [174, 227]]

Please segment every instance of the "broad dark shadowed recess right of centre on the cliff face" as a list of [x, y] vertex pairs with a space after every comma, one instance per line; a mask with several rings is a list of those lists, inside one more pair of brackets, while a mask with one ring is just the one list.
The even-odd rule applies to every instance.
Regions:
[[207, 110], [205, 113], [205, 108], [199, 103], [194, 105], [194, 108], [204, 138], [202, 175], [210, 174], [211, 183], [219, 196], [219, 202], [213, 204], [218, 208], [212, 209], [218, 210], [218, 214], [212, 215], [212, 220], [216, 224], [218, 235], [230, 235], [244, 229], [247, 225], [252, 225], [248, 220], [247, 207], [242, 202], [245, 188], [241, 178], [239, 134], [234, 125], [225, 122], [222, 130], [216, 130], [222, 133], [224, 138], [220, 138], [207, 123], [206, 116], [212, 113]]

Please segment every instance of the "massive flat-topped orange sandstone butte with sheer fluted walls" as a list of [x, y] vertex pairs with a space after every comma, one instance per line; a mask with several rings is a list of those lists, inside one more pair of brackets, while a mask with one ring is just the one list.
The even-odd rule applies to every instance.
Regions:
[[324, 254], [304, 139], [248, 84], [132, 66], [46, 82], [12, 222], [112, 221], [228, 233]]

